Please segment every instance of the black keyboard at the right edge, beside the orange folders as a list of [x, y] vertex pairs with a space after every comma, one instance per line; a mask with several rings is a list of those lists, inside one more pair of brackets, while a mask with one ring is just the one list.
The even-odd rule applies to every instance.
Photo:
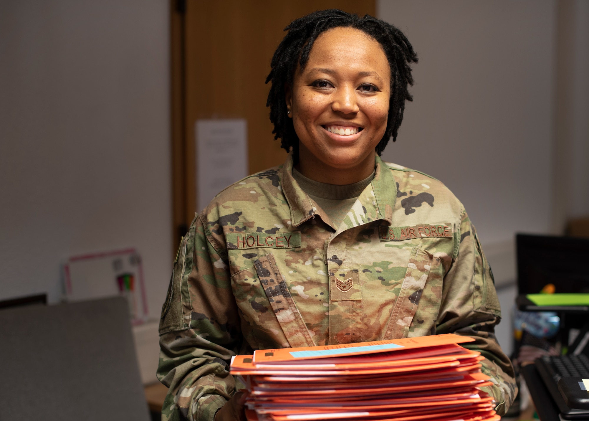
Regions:
[[542, 357], [535, 362], [538, 373], [544, 380], [554, 402], [560, 409], [561, 417], [567, 420], [589, 418], [589, 410], [572, 409], [567, 406], [558, 390], [558, 380], [562, 377], [582, 377], [589, 379], [589, 358], [581, 355], [561, 355], [558, 357]]

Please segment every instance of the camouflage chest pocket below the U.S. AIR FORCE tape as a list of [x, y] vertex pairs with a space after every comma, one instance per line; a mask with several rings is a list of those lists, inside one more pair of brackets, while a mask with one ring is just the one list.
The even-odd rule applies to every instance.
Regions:
[[438, 273], [440, 265], [439, 258], [428, 251], [416, 247], [412, 249], [383, 339], [435, 333], [435, 320], [442, 298], [442, 277]]

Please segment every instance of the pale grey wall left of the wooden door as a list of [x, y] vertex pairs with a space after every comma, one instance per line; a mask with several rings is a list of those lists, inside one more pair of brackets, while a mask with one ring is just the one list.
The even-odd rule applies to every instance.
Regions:
[[134, 246], [150, 315], [171, 271], [168, 3], [0, 4], [0, 300], [61, 294], [68, 255]]

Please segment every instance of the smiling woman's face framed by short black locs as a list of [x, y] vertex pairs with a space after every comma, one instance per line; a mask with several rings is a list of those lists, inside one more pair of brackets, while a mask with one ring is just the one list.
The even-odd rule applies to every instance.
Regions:
[[353, 169], [368, 162], [372, 172], [386, 129], [390, 78], [386, 55], [373, 38], [353, 28], [323, 32], [305, 70], [297, 68], [286, 90], [301, 163]]

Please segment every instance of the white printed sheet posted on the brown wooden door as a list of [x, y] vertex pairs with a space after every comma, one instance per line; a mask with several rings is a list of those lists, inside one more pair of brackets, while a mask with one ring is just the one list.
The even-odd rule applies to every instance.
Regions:
[[197, 208], [247, 176], [247, 121], [196, 120]]

